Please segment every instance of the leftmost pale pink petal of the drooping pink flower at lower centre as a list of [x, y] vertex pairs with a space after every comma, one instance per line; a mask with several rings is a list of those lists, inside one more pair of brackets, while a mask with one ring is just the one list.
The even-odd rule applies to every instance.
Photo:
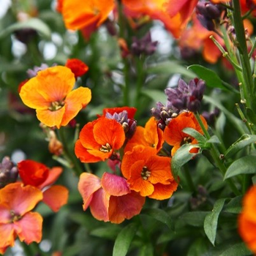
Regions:
[[92, 196], [101, 187], [100, 179], [91, 173], [82, 173], [78, 182], [78, 191], [83, 197], [83, 211], [91, 203]]

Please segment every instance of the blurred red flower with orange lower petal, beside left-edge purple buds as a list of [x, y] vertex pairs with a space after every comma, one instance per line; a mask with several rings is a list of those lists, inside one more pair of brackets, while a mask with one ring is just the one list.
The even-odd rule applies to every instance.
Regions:
[[[61, 185], [52, 185], [62, 173], [61, 167], [49, 169], [33, 160], [18, 162], [18, 172], [23, 184], [31, 185], [43, 191], [43, 202], [53, 211], [59, 211], [67, 203], [68, 189]], [[50, 187], [49, 187], [50, 186]]]

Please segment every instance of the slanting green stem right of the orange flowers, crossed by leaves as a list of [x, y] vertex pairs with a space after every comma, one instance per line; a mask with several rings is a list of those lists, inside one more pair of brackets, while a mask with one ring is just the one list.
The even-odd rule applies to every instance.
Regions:
[[[211, 135], [208, 133], [208, 130], [203, 124], [202, 119], [200, 118], [199, 113], [195, 113], [195, 118], [197, 119], [198, 124], [200, 125], [201, 129], [203, 130], [203, 134], [206, 136], [206, 139], [209, 140], [211, 138]], [[214, 143], [211, 143], [211, 157], [214, 159], [215, 165], [219, 168], [220, 172], [222, 173], [222, 176], [225, 176], [227, 168], [222, 163], [222, 161], [219, 159], [219, 150], [214, 145]], [[233, 190], [233, 193], [235, 195], [241, 195], [235, 184], [233, 184], [233, 181], [230, 179], [227, 179], [227, 183], [230, 185], [230, 188]]]

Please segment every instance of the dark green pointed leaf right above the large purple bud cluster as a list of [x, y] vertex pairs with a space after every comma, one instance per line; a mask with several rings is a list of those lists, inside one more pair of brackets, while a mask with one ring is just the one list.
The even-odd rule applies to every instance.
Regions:
[[220, 88], [223, 90], [236, 91], [233, 86], [230, 86], [228, 83], [223, 82], [219, 76], [211, 69], [203, 67], [198, 64], [191, 65], [187, 67], [191, 69], [195, 74], [199, 76], [199, 78], [206, 81], [206, 86], [211, 88]]

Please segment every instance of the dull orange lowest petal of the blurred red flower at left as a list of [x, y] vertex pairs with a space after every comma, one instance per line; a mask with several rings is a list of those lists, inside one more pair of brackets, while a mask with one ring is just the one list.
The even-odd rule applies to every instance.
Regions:
[[43, 192], [42, 201], [48, 205], [54, 212], [59, 211], [61, 206], [67, 203], [69, 190], [61, 185], [54, 185]]

